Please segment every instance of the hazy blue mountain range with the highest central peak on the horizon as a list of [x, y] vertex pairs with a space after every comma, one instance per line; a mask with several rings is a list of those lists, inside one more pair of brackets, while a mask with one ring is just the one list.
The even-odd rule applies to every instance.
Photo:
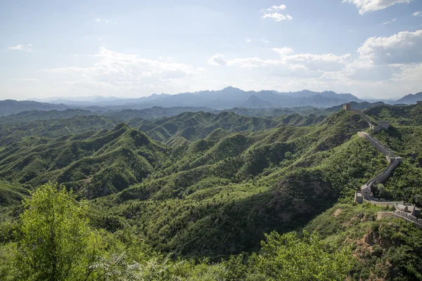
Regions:
[[[224, 110], [232, 107], [268, 108], [268, 107], [331, 107], [341, 103], [357, 101], [359, 98], [350, 93], [333, 91], [314, 92], [298, 91], [280, 93], [277, 91], [243, 91], [234, 87], [226, 87], [219, 91], [198, 91], [194, 93], [153, 94], [143, 98], [115, 99], [95, 98], [93, 100], [52, 100], [51, 103], [63, 103], [69, 107], [97, 107], [96, 110], [141, 110], [153, 106], [159, 107], [210, 107]], [[87, 108], [91, 110], [91, 108]], [[91, 110], [92, 111], [92, 110]]]

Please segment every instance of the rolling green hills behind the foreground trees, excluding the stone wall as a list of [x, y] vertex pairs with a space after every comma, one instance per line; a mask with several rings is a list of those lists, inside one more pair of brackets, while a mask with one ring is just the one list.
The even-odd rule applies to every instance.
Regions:
[[[421, 112], [420, 105], [366, 110], [375, 124], [390, 120], [376, 138], [404, 158], [373, 192], [419, 207]], [[51, 181], [88, 199], [90, 225], [103, 229], [110, 245], [107, 257], [171, 252], [174, 262], [225, 259], [198, 264], [229, 270], [256, 266], [252, 253], [264, 251], [266, 233], [305, 229], [321, 236], [324, 249], [351, 248], [351, 280], [418, 280], [422, 230], [377, 220], [382, 208], [352, 204], [354, 191], [387, 164], [358, 131], [369, 124], [345, 110], [328, 117], [184, 112], [127, 124], [95, 115], [1, 124], [0, 250], [3, 240], [18, 239], [28, 190]], [[244, 258], [229, 258], [242, 252]]]

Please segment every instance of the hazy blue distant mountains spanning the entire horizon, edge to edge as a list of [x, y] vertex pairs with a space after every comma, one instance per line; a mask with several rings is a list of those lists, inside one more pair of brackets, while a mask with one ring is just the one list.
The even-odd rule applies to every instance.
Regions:
[[[80, 98], [81, 100], [59, 99], [51, 100], [50, 103], [41, 103], [33, 100], [0, 101], [0, 116], [17, 114], [32, 110], [68, 110], [79, 109], [89, 110], [92, 113], [111, 114], [122, 110], [143, 110], [143, 112], [132, 112], [132, 114], [141, 115], [142, 118], [151, 119], [165, 116], [177, 115], [186, 111], [205, 111], [215, 112], [215, 110], [230, 110], [232, 108], [245, 109], [275, 109], [291, 107], [315, 107], [329, 108], [339, 107], [343, 103], [362, 103], [364, 100], [353, 96], [351, 93], [335, 93], [333, 91], [314, 92], [309, 90], [297, 92], [278, 92], [278, 91], [243, 91], [234, 87], [226, 87], [219, 91], [198, 91], [193, 93], [153, 94], [142, 98], [115, 98], [99, 97]], [[422, 100], [422, 92], [414, 95], [409, 94], [390, 102], [391, 104], [413, 104], [417, 100]], [[371, 100], [374, 103], [376, 100]], [[366, 106], [366, 105], [362, 105]], [[155, 107], [155, 109], [153, 109]], [[174, 110], [158, 110], [159, 107]], [[150, 110], [151, 109], [151, 110]], [[150, 110], [148, 112], [148, 110]], [[183, 111], [181, 111], [183, 110]], [[68, 112], [74, 115], [75, 112]], [[80, 112], [79, 112], [80, 113]], [[86, 113], [86, 112], [85, 112]], [[131, 112], [124, 112], [131, 115]], [[52, 114], [49, 118], [53, 118]], [[28, 118], [30, 116], [28, 115]]]

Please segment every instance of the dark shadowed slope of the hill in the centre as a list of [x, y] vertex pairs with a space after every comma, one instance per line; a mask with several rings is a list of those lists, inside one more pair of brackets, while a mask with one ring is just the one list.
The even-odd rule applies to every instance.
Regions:
[[301, 190], [288, 184], [279, 183], [274, 190], [207, 206], [208, 215], [179, 230], [163, 250], [184, 257], [210, 256], [212, 261], [229, 254], [258, 251], [264, 233], [300, 230], [333, 207], [337, 198], [319, 182], [308, 182]]

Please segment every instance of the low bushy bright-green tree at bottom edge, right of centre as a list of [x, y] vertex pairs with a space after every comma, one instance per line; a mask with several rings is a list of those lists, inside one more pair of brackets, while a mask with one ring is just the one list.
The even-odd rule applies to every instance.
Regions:
[[316, 234], [304, 232], [300, 239], [294, 232], [272, 232], [266, 237], [262, 254], [250, 257], [251, 280], [264, 275], [263, 280], [343, 281], [354, 265], [350, 249], [333, 251]]

